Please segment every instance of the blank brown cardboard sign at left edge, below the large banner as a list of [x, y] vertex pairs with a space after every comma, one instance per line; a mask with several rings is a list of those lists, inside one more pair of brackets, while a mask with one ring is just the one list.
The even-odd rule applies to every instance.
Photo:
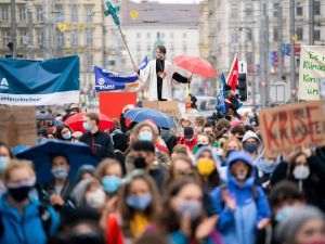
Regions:
[[35, 107], [0, 106], [0, 141], [15, 146], [35, 145], [37, 139]]

